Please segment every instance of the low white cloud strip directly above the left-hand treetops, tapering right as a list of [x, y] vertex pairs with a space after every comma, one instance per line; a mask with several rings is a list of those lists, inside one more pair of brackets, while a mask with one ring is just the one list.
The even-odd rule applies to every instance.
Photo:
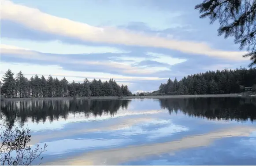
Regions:
[[[115, 74], [108, 74], [104, 72], [78, 72], [78, 71], [69, 71], [65, 70], [58, 65], [33, 65], [33, 64], [23, 64], [23, 63], [7, 63], [1, 62], [1, 72], [0, 76], [2, 78], [3, 74], [7, 69], [11, 69], [12, 72], [17, 74], [19, 71], [22, 71], [24, 75], [29, 79], [31, 76], [44, 75], [46, 78], [51, 74], [58, 79], [66, 77], [69, 82], [73, 80], [75, 82], [82, 82], [85, 78], [90, 80], [92, 79], [101, 79], [102, 81], [107, 81], [110, 78], [113, 78], [119, 84], [132, 84], [129, 81], [131, 80], [160, 80], [158, 77], [133, 77], [133, 76], [122, 76]], [[33, 70], [31, 70], [33, 69]]]

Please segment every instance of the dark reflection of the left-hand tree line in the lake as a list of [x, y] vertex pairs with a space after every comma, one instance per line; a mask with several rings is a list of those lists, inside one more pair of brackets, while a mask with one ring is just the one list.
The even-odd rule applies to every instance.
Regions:
[[18, 112], [20, 126], [31, 119], [32, 122], [52, 122], [59, 118], [67, 119], [70, 113], [84, 113], [84, 117], [111, 115], [126, 109], [130, 100], [52, 100], [52, 101], [7, 101], [1, 102], [1, 112], [12, 122], [13, 113]]

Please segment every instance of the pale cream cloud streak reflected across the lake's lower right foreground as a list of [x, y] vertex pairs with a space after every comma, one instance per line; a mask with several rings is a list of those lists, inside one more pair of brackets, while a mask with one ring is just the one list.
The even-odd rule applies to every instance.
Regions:
[[[249, 136], [256, 130], [256, 127], [235, 127], [225, 130], [219, 130], [203, 135], [194, 135], [184, 137], [181, 140], [170, 141], [164, 143], [147, 144], [141, 146], [114, 148], [111, 150], [100, 150], [90, 153], [85, 153], [76, 157], [68, 157], [67, 159], [58, 162], [47, 163], [48, 165], [116, 165], [129, 160], [144, 159], [152, 155], [160, 155], [164, 153], [175, 152], [186, 148], [196, 148], [208, 146], [216, 139], [223, 137]], [[202, 156], [204, 157], [204, 156]], [[144, 165], [144, 164], [142, 164]], [[160, 164], [161, 165], [161, 164]]]

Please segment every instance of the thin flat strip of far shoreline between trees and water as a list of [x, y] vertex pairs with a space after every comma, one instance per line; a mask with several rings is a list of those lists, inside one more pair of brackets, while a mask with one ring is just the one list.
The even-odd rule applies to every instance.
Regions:
[[[190, 98], [190, 97], [239, 97], [239, 94], [199, 94], [199, 95], [163, 95], [163, 96], [99, 96], [77, 97], [76, 99], [115, 100], [115, 99], [163, 99], [163, 98]], [[245, 96], [241, 96], [245, 97]], [[34, 98], [5, 98], [4, 101], [29, 101], [29, 100], [73, 100], [73, 97], [34, 97]]]

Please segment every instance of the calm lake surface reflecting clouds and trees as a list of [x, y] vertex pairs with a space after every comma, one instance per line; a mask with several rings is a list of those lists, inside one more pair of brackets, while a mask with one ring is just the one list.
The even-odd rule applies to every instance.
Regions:
[[256, 99], [2, 102], [42, 165], [256, 165]]

